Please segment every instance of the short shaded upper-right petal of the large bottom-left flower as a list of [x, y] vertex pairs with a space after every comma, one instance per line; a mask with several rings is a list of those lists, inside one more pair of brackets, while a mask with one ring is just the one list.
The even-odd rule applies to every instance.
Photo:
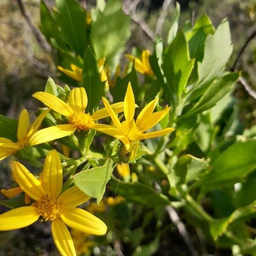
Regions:
[[58, 202], [64, 208], [76, 207], [79, 204], [83, 204], [90, 199], [90, 196], [85, 195], [77, 186], [73, 186], [70, 189], [64, 191], [58, 198]]

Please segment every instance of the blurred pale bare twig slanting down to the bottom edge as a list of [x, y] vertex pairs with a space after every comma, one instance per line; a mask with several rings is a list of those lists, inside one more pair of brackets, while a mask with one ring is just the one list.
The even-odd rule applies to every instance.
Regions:
[[176, 225], [177, 229], [179, 230], [180, 235], [183, 237], [184, 241], [186, 242], [186, 245], [189, 247], [189, 250], [192, 254], [192, 256], [199, 256], [199, 253], [197, 250], [195, 250], [195, 247], [189, 237], [189, 233], [186, 231], [186, 227], [183, 224], [183, 222], [180, 220], [179, 215], [175, 211], [173, 207], [170, 205], [167, 205], [165, 207], [166, 212], [168, 213], [170, 219], [172, 222]]

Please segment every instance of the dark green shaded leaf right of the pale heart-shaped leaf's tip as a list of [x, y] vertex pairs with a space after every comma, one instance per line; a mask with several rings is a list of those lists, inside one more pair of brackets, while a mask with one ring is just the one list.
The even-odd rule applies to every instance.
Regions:
[[112, 177], [110, 189], [118, 195], [122, 195], [129, 202], [143, 204], [148, 207], [170, 203], [165, 195], [140, 182], [124, 182]]

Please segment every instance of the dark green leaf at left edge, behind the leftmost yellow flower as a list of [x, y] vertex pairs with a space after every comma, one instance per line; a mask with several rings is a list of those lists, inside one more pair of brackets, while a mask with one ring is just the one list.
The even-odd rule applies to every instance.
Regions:
[[17, 141], [18, 121], [4, 115], [0, 115], [0, 136], [10, 139], [13, 142]]

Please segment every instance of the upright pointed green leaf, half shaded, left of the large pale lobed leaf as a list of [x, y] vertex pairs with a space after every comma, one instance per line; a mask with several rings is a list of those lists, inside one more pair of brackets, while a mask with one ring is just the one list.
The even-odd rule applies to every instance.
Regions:
[[189, 51], [185, 36], [179, 31], [163, 56], [163, 71], [169, 86], [178, 97], [186, 87], [192, 71], [194, 60], [189, 59]]

